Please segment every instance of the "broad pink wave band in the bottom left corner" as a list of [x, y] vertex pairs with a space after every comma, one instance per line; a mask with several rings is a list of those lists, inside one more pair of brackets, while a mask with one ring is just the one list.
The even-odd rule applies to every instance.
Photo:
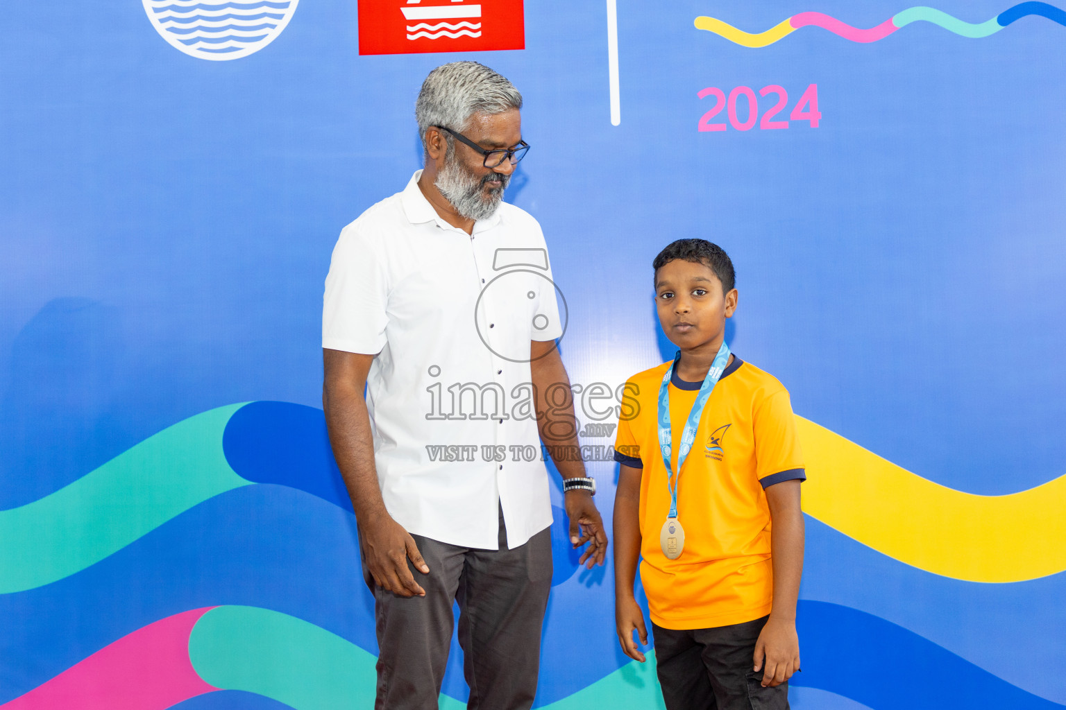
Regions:
[[3, 710], [164, 710], [219, 690], [189, 661], [189, 634], [213, 607], [183, 611], [104, 646]]

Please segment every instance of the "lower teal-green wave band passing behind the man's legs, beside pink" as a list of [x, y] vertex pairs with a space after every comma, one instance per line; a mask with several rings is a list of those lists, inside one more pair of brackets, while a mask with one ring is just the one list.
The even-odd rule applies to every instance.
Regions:
[[[655, 677], [655, 654], [635, 661], [545, 710], [663, 708]], [[296, 710], [370, 708], [374, 705], [377, 659], [309, 622], [258, 607], [216, 607], [189, 635], [189, 658], [205, 682], [224, 690], [257, 693]], [[462, 703], [440, 696], [440, 710]]]

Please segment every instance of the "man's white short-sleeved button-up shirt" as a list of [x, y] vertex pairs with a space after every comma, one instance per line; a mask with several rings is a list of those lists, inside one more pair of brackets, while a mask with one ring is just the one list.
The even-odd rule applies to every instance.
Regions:
[[517, 547], [551, 525], [530, 342], [560, 337], [565, 312], [536, 219], [504, 202], [467, 234], [437, 215], [420, 175], [341, 231], [322, 346], [377, 356], [367, 404], [389, 514], [414, 534], [497, 549], [502, 507]]

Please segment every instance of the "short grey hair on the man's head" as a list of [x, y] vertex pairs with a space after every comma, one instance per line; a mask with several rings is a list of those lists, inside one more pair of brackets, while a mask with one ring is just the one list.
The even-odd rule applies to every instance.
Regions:
[[[425, 143], [431, 126], [463, 131], [475, 113], [499, 114], [522, 108], [522, 95], [505, 77], [477, 62], [441, 64], [422, 82], [415, 102], [418, 135]], [[445, 134], [451, 148], [451, 136]]]

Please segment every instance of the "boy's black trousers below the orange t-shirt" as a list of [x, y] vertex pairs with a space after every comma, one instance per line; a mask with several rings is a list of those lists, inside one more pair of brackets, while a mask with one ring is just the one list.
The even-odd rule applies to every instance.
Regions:
[[752, 671], [766, 618], [691, 631], [652, 623], [666, 710], [788, 710], [788, 682], [763, 688], [762, 671]]

